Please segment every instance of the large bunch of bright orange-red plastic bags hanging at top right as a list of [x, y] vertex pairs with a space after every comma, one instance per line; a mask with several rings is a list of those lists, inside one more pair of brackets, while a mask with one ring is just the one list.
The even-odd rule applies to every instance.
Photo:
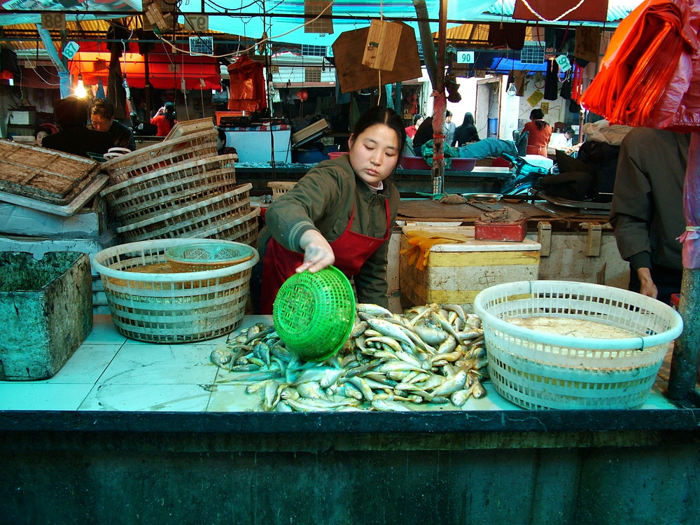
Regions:
[[700, 129], [700, 0], [647, 0], [615, 31], [581, 104], [610, 123]]

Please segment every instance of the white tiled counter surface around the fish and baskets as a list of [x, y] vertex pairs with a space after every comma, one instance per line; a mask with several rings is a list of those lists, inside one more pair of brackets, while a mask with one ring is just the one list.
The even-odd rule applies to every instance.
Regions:
[[[241, 328], [269, 316], [247, 316]], [[0, 410], [120, 410], [163, 412], [240, 412], [255, 409], [259, 395], [230, 384], [232, 374], [209, 362], [226, 337], [195, 344], [149, 344], [127, 339], [111, 317], [94, 317], [94, 328], [57, 374], [43, 381], [0, 381]], [[670, 356], [670, 353], [669, 353]], [[663, 392], [668, 363], [643, 408], [673, 409]], [[470, 398], [465, 409], [512, 410], [517, 406], [493, 391]], [[414, 408], [426, 409], [426, 405]], [[433, 407], [436, 409], [438, 407]]]

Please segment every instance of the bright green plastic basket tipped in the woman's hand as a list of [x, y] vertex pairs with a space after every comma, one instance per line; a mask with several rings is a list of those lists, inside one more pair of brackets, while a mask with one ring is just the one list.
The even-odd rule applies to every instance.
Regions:
[[290, 276], [272, 306], [277, 334], [290, 351], [322, 361], [347, 341], [355, 323], [355, 293], [334, 266]]

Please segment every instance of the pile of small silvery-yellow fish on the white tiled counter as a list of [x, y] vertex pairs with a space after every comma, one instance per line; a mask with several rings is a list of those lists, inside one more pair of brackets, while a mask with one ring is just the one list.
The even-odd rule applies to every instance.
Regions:
[[299, 360], [273, 325], [233, 333], [211, 362], [232, 372], [217, 383], [246, 384], [257, 411], [410, 411], [424, 403], [461, 407], [486, 395], [481, 320], [458, 304], [426, 304], [403, 314], [358, 304], [344, 347], [322, 363]]

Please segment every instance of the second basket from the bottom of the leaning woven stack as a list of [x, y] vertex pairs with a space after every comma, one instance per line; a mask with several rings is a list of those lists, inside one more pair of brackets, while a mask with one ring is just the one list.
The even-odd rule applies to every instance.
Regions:
[[[174, 237], [209, 237], [210, 232], [223, 229], [251, 213], [249, 191], [251, 183], [241, 184], [233, 191], [194, 202], [165, 214], [146, 218], [116, 230], [125, 241], [168, 239]], [[207, 232], [204, 235], [204, 232]]]

